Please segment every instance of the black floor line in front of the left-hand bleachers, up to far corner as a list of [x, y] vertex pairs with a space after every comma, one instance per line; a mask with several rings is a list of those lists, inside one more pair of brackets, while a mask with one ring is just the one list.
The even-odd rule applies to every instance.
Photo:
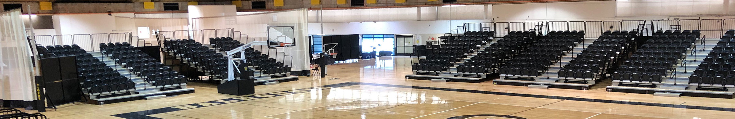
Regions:
[[128, 112], [128, 113], [112, 115], [112, 116], [115, 116], [118, 118], [127, 118], [127, 119], [161, 119], [161, 118], [151, 117], [148, 115], [155, 115], [155, 114], [160, 114], [160, 113], [165, 113], [165, 112], [175, 112], [175, 111], [181, 111], [185, 109], [195, 109], [195, 108], [200, 108], [200, 107], [209, 107], [209, 106], [215, 106], [215, 105], [220, 105], [220, 104], [230, 104], [230, 103], [239, 102], [239, 101], [250, 101], [250, 100], [256, 100], [256, 99], [261, 99], [261, 98], [273, 98], [273, 97], [278, 97], [282, 95], [307, 93], [307, 92], [311, 92], [312, 89], [326, 90], [326, 89], [334, 88], [334, 87], [346, 87], [346, 86], [352, 86], [352, 85], [357, 85], [357, 84], [359, 84], [359, 82], [345, 82], [345, 83], [340, 83], [340, 84], [329, 84], [329, 85], [324, 85], [320, 87], [308, 87], [308, 88], [302, 88], [298, 90], [287, 90], [287, 91], [276, 92], [276, 93], [265, 93], [265, 94], [260, 94], [260, 95], [248, 95], [248, 96], [242, 96], [242, 97], [237, 97], [237, 98], [226, 98], [226, 99], [221, 99], [217, 101], [207, 101], [207, 102], [201, 102], [201, 103], [196, 103], [196, 104], [179, 105], [176, 107], [164, 107], [164, 108], [159, 108], [159, 109], [150, 109], [150, 110], [138, 111], [138, 112]]

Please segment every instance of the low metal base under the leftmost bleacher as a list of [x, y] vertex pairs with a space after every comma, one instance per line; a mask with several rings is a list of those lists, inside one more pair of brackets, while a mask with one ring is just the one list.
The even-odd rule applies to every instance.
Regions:
[[132, 94], [132, 95], [121, 95], [121, 96], [115, 96], [110, 98], [98, 98], [98, 99], [88, 99], [87, 103], [89, 104], [97, 104], [97, 105], [103, 105], [103, 104], [114, 104], [119, 102], [125, 102], [125, 101], [136, 101], [136, 100], [142, 100], [145, 99], [147, 96], [151, 95], [182, 95], [182, 94], [188, 94], [188, 93], [194, 93], [193, 88], [184, 88], [184, 89], [178, 89], [178, 90], [166, 90], [166, 91], [160, 91], [157, 93], [146, 93], [146, 94]]

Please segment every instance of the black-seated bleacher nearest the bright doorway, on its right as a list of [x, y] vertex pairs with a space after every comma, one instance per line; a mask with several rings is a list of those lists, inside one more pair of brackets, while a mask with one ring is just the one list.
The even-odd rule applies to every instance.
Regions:
[[[406, 75], [406, 79], [448, 79], [451, 82], [485, 82], [497, 76], [499, 57], [498, 45], [492, 40], [493, 31], [465, 32], [451, 36], [432, 54], [412, 65], [414, 74]], [[493, 50], [495, 49], [495, 50]]]

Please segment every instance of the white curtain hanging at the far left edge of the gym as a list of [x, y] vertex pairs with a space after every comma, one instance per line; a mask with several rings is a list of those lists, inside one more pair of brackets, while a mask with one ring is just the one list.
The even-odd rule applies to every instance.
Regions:
[[0, 14], [0, 99], [34, 99], [33, 55], [26, 39], [21, 10]]

